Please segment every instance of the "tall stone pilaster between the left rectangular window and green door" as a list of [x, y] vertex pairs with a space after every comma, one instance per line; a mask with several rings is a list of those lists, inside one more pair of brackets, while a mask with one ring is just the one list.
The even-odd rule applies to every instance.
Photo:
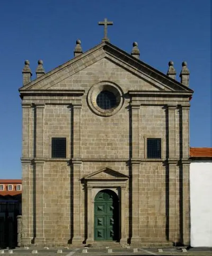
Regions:
[[73, 105], [73, 244], [82, 244], [81, 223], [81, 109], [82, 104]]

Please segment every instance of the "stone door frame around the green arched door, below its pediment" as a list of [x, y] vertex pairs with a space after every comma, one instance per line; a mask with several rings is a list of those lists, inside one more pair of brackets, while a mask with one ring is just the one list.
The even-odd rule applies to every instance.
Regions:
[[[120, 243], [126, 244], [126, 180], [127, 179], [110, 179], [110, 180], [86, 180], [87, 189], [87, 240], [86, 244], [94, 242], [94, 199], [97, 193], [103, 189], [114, 191], [119, 198], [119, 234]], [[101, 243], [101, 242], [100, 242]]]

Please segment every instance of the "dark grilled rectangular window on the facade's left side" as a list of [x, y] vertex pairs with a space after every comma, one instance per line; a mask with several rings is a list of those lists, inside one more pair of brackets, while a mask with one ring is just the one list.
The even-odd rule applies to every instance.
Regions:
[[66, 158], [66, 138], [51, 138], [51, 157]]

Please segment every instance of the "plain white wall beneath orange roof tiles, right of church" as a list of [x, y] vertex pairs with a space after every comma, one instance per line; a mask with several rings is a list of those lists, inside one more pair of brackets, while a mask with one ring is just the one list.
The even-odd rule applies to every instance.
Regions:
[[191, 246], [212, 247], [212, 161], [190, 164]]

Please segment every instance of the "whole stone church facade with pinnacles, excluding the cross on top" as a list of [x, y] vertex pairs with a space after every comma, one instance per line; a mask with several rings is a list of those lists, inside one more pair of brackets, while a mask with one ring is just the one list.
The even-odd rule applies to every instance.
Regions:
[[178, 82], [137, 43], [77, 40], [73, 59], [31, 75], [25, 61], [22, 244], [190, 244], [187, 63]]

